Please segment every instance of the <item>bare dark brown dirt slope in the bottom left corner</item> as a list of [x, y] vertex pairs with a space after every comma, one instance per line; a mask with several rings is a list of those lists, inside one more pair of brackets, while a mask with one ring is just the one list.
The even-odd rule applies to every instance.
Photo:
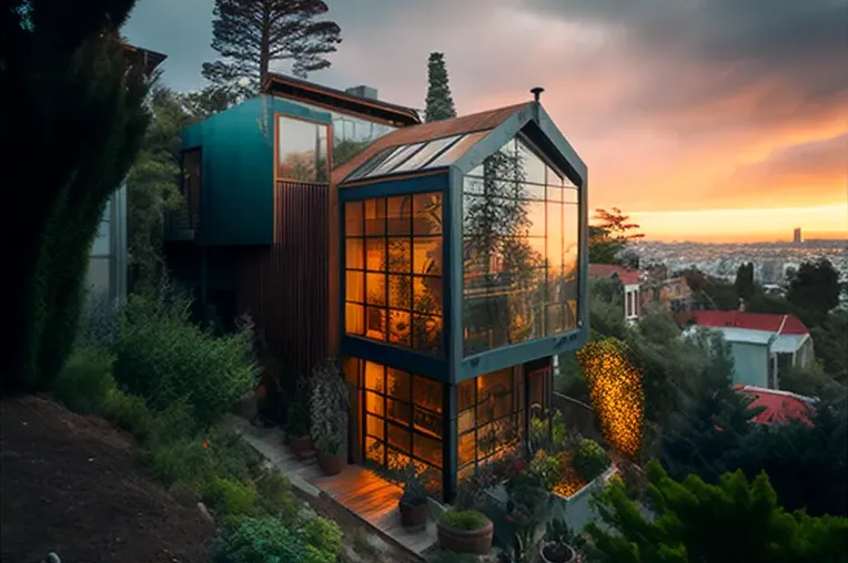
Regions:
[[138, 468], [105, 421], [49, 400], [0, 401], [0, 561], [205, 562], [213, 525]]

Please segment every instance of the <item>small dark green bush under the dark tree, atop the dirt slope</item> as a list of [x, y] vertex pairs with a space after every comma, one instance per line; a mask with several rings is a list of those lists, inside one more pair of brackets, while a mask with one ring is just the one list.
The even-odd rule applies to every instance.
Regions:
[[114, 389], [112, 361], [112, 356], [101, 349], [74, 349], [53, 380], [53, 397], [74, 412], [101, 412]]

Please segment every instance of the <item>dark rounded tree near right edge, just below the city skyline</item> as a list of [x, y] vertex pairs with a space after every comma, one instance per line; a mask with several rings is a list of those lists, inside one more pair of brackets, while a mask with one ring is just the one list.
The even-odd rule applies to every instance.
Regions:
[[805, 262], [789, 278], [786, 297], [798, 307], [807, 326], [816, 326], [827, 317], [828, 311], [839, 305], [839, 273], [830, 260], [822, 258], [815, 263]]

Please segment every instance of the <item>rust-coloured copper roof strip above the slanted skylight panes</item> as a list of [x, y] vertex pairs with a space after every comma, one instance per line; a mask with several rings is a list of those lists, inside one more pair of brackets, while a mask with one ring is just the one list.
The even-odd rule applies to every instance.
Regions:
[[335, 168], [331, 182], [333, 184], [340, 183], [354, 170], [359, 168], [384, 149], [423, 143], [445, 136], [473, 133], [475, 131], [492, 130], [532, 103], [533, 102], [524, 102], [508, 105], [506, 108], [499, 108], [497, 110], [489, 110], [487, 112], [463, 115], [462, 117], [454, 117], [452, 120], [434, 121], [432, 123], [423, 123], [421, 125], [398, 129], [377, 139], [360, 154]]

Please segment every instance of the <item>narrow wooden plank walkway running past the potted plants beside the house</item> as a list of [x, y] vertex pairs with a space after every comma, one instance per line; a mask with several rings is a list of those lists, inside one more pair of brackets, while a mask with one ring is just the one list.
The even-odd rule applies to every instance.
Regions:
[[436, 526], [432, 521], [423, 532], [403, 529], [397, 511], [401, 489], [373, 471], [345, 465], [340, 474], [326, 477], [314, 460], [303, 461], [291, 453], [283, 444], [282, 430], [253, 427], [236, 417], [230, 422], [248, 443], [289, 477], [292, 485], [315, 497], [326, 494], [382, 536], [415, 555], [422, 556], [436, 544]]

